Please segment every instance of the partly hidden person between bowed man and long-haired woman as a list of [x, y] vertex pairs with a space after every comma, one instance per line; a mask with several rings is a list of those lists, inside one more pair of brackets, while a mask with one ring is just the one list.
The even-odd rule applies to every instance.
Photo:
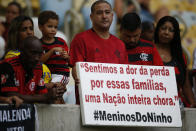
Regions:
[[154, 39], [154, 24], [146, 21], [142, 22], [142, 34], [141, 38], [144, 40], [152, 41]]

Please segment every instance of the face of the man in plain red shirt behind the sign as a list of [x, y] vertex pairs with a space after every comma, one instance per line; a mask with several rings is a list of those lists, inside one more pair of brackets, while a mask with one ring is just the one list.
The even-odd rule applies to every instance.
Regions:
[[90, 17], [95, 29], [109, 30], [113, 20], [112, 9], [107, 3], [97, 4]]

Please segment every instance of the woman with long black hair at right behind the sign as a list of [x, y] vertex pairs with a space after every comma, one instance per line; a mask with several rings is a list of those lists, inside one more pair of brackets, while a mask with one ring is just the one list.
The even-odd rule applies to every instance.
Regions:
[[183, 55], [180, 29], [177, 20], [171, 16], [162, 17], [155, 28], [155, 44], [165, 66], [174, 66], [180, 100], [185, 107], [196, 107], [188, 79], [188, 69]]

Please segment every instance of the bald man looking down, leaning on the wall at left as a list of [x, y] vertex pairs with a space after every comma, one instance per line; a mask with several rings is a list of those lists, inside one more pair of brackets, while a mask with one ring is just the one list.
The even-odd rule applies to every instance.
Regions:
[[64, 87], [46, 88], [39, 62], [42, 45], [37, 37], [24, 39], [21, 54], [5, 59], [1, 64], [1, 92], [8, 96], [19, 96], [26, 103], [44, 102], [62, 97]]

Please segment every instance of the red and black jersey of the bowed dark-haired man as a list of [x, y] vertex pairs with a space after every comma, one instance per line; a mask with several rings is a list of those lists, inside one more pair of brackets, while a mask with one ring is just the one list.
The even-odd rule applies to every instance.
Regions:
[[163, 61], [153, 43], [140, 39], [135, 48], [127, 49], [129, 64], [163, 66]]

